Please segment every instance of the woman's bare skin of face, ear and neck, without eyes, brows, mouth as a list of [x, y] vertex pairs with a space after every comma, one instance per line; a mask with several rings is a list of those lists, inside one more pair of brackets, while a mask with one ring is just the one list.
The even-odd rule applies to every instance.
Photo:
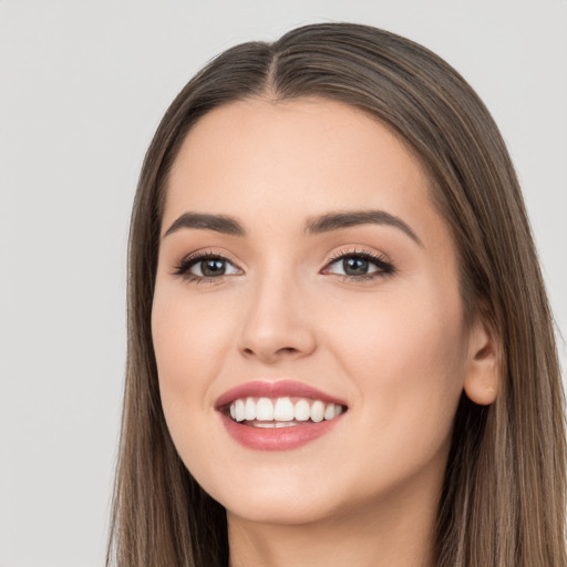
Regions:
[[[429, 195], [403, 142], [338, 102], [240, 101], [187, 135], [167, 187], [152, 330], [167, 425], [227, 508], [233, 567], [433, 566], [457, 402], [463, 389], [494, 400], [496, 357], [485, 326], [464, 326], [454, 245]], [[315, 216], [369, 208], [420, 241], [389, 225], [303, 231]], [[236, 217], [247, 236], [166, 235], [187, 212]], [[361, 249], [394, 272], [346, 279], [330, 264]], [[228, 274], [176, 275], [195, 251], [227, 258]], [[258, 379], [307, 383], [348, 411], [298, 449], [243, 447], [215, 402]]]

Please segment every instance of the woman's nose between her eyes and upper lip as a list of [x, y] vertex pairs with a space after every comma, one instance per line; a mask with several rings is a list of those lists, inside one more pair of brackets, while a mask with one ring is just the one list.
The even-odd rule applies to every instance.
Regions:
[[317, 348], [316, 321], [290, 277], [266, 277], [249, 290], [239, 351], [266, 364], [299, 359]]

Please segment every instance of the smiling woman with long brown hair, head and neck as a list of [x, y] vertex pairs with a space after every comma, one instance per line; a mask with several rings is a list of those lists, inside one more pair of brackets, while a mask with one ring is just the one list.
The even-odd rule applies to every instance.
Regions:
[[247, 43], [146, 155], [121, 566], [564, 566], [563, 393], [518, 183], [445, 62]]

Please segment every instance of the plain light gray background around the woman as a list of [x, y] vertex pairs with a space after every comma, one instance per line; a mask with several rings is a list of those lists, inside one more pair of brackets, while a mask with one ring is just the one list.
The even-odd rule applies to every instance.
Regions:
[[1, 567], [103, 564], [128, 215], [163, 112], [218, 52], [323, 20], [416, 40], [477, 90], [567, 334], [566, 0], [0, 0]]

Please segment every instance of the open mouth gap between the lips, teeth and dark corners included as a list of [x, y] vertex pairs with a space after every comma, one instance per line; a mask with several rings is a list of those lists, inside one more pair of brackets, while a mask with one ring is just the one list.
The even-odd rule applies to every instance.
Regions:
[[238, 398], [224, 408], [233, 422], [261, 429], [293, 427], [331, 421], [347, 408], [310, 398]]

